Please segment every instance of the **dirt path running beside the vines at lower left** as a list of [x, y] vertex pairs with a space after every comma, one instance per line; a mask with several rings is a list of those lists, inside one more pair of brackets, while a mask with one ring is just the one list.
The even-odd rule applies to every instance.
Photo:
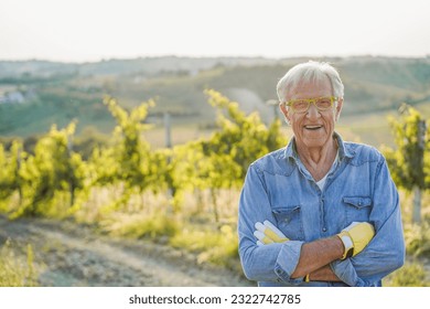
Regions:
[[31, 244], [41, 286], [249, 286], [225, 269], [200, 266], [166, 246], [101, 237], [83, 226], [0, 216], [0, 244]]

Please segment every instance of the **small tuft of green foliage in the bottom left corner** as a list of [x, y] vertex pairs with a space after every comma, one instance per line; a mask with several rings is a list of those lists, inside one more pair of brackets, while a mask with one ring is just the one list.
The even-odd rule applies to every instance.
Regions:
[[37, 271], [33, 265], [34, 254], [31, 245], [26, 246], [26, 260], [20, 259], [12, 243], [8, 239], [0, 248], [0, 287], [37, 286]]

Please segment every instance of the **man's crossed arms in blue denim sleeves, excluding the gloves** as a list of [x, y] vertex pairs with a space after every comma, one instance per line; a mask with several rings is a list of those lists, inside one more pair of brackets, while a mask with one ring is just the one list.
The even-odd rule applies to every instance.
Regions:
[[[248, 185], [240, 198], [238, 234], [239, 255], [245, 275], [259, 283], [280, 281], [300, 285], [309, 275], [314, 281], [343, 281], [348, 286], [374, 286], [405, 260], [405, 243], [398, 194], [381, 166], [375, 177], [375, 192], [369, 222], [377, 233], [356, 258], [342, 259], [345, 253], [340, 237], [333, 235], [305, 243], [291, 239], [264, 247], [256, 245], [252, 232], [256, 221], [273, 220], [266, 180], [250, 169]], [[251, 188], [251, 189], [250, 189]], [[257, 206], [256, 206], [257, 205]], [[335, 275], [336, 274], [336, 275]]]

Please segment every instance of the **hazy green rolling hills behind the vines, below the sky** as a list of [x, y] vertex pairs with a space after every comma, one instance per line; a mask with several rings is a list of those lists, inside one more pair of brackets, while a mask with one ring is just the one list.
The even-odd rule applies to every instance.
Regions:
[[[302, 61], [307, 60], [171, 56], [82, 64], [0, 62], [0, 99], [11, 93], [25, 98], [23, 103], [0, 104], [0, 136], [29, 138], [46, 132], [52, 124], [63, 127], [72, 119], [78, 120], [78, 134], [92, 128], [109, 135], [115, 124], [101, 102], [110, 95], [128, 108], [154, 98], [157, 106], [148, 118], [154, 130], [149, 139], [161, 145], [162, 115], [170, 113], [173, 131], [181, 132], [175, 142], [182, 142], [214, 125], [215, 113], [206, 103], [206, 88], [238, 102], [246, 111], [258, 110], [269, 122], [279, 114], [266, 102], [277, 99], [277, 82]], [[429, 57], [323, 61], [333, 63], [344, 81], [340, 127], [353, 139], [380, 143], [388, 132], [386, 115], [404, 102], [422, 108], [422, 113], [429, 110]], [[375, 138], [376, 134], [385, 137]]]

